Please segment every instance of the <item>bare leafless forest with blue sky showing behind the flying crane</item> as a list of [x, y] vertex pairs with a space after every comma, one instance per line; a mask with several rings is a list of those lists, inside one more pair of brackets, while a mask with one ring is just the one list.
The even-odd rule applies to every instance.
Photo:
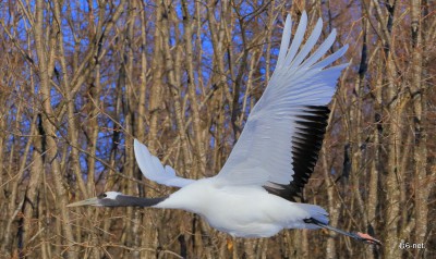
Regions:
[[[435, 258], [435, 5], [0, 2], [0, 257]], [[217, 174], [271, 76], [286, 14], [302, 10], [324, 18], [322, 37], [338, 29], [332, 50], [350, 45], [305, 199], [383, 247], [301, 230], [231, 247], [184, 211], [65, 208], [174, 190], [143, 178], [133, 138], [183, 176]]]

